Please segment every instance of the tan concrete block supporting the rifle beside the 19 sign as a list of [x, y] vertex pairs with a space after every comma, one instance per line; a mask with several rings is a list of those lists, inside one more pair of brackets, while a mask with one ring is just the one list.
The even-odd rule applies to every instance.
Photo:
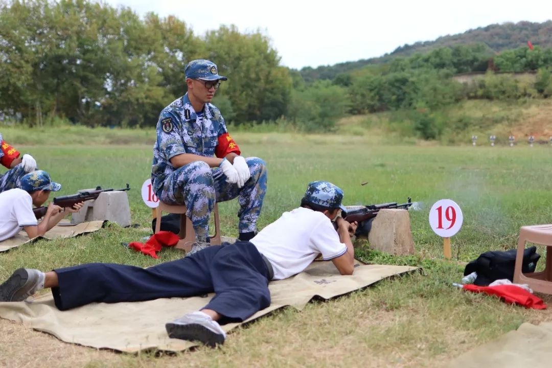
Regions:
[[378, 212], [368, 234], [370, 248], [393, 255], [414, 254], [414, 241], [407, 210], [385, 209]]

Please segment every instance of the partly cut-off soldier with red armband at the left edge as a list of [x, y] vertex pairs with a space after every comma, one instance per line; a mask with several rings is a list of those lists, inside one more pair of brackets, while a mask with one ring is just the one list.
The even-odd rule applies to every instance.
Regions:
[[20, 179], [26, 173], [36, 170], [36, 161], [30, 154], [21, 154], [2, 139], [0, 133], [0, 163], [9, 170], [0, 174], [0, 193], [4, 190], [19, 188]]

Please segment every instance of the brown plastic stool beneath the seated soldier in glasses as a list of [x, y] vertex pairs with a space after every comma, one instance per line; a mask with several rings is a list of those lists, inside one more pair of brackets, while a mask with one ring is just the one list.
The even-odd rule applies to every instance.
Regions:
[[[181, 214], [180, 215], [180, 232], [178, 237], [180, 240], [176, 244], [175, 248], [184, 249], [186, 252], [189, 252], [192, 249], [193, 244], [195, 243], [195, 231], [192, 225], [192, 220], [186, 216], [186, 211], [188, 209], [184, 205], [168, 205], [159, 201], [159, 206], [156, 209], [156, 218], [157, 222], [155, 224], [155, 232], [161, 230], [161, 214], [162, 212], [168, 212], [169, 214]], [[220, 244], [220, 218], [219, 218], [219, 206], [215, 203], [213, 209], [213, 214], [215, 216], [215, 234], [210, 236], [211, 244]]]

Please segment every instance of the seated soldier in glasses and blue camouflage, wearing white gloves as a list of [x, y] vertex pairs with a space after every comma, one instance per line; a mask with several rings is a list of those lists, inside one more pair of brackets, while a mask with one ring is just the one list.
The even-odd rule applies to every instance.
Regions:
[[210, 103], [220, 81], [227, 80], [216, 65], [194, 60], [184, 72], [188, 92], [164, 108], [157, 122], [151, 182], [161, 201], [187, 207], [198, 240], [193, 253], [208, 241], [215, 201], [237, 197], [238, 238], [248, 241], [254, 236], [267, 189], [267, 168], [260, 158], [240, 156], [219, 109]]

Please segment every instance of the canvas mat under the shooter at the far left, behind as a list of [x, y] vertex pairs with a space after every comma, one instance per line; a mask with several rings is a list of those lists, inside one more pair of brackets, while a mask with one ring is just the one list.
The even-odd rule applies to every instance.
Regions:
[[38, 236], [34, 239], [29, 239], [27, 233], [22, 230], [14, 237], [6, 239], [0, 242], [0, 252], [6, 252], [6, 250], [19, 247], [21, 244], [34, 242], [38, 239], [56, 239], [56, 238], [70, 238], [79, 234], [89, 233], [102, 228], [103, 221], [89, 221], [81, 222], [73, 225], [69, 222], [61, 222], [47, 231], [44, 236]]

